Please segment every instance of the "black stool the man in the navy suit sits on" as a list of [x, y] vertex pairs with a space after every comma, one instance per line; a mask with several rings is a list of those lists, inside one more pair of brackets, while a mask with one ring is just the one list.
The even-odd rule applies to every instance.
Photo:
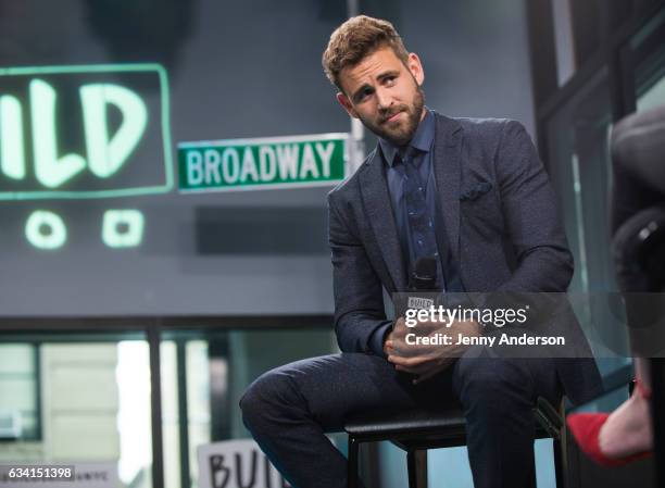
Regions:
[[[561, 471], [561, 430], [564, 427], [561, 414], [543, 398], [538, 398], [532, 410], [536, 425], [536, 438], [554, 439], [554, 470], [556, 486], [563, 484]], [[350, 417], [344, 430], [349, 435], [349, 488], [356, 488], [359, 483], [359, 448], [362, 442], [389, 440], [406, 451], [409, 488], [418, 488], [416, 453], [428, 449], [452, 448], [466, 445], [465, 420], [462, 411], [426, 411], [386, 412], [362, 414]], [[427, 458], [421, 460], [426, 467]], [[532, 487], [536, 487], [536, 466], [532, 467]], [[425, 477], [426, 488], [427, 478]]]

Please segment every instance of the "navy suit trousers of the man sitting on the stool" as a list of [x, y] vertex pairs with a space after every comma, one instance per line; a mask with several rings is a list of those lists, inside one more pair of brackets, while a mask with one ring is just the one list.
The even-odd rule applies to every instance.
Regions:
[[240, 400], [242, 418], [273, 464], [296, 488], [346, 488], [347, 460], [326, 433], [350, 413], [460, 405], [467, 422], [476, 488], [519, 488], [534, 463], [537, 397], [561, 401], [548, 359], [490, 356], [473, 347], [441, 374], [413, 386], [382, 358], [331, 354], [259, 377]]

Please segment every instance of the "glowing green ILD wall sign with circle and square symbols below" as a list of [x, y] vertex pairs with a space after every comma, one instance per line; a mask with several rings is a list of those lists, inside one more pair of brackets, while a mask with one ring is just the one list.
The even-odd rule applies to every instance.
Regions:
[[[0, 70], [0, 200], [170, 191], [167, 115], [160, 65]], [[27, 218], [25, 237], [38, 249], [60, 249], [66, 218], [43, 203]], [[110, 248], [137, 247], [143, 221], [137, 209], [109, 209], [99, 234]]]

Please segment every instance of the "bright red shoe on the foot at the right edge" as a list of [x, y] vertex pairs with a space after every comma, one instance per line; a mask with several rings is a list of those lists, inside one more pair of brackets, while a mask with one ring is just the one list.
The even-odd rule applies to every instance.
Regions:
[[[649, 399], [651, 392], [644, 389], [640, 381], [636, 381], [636, 390], [642, 398]], [[599, 435], [603, 424], [607, 421], [608, 413], [574, 413], [568, 415], [566, 423], [577, 440], [580, 449], [601, 466], [616, 467], [632, 461], [649, 458], [653, 451], [643, 451], [625, 458], [607, 458], [600, 449]]]

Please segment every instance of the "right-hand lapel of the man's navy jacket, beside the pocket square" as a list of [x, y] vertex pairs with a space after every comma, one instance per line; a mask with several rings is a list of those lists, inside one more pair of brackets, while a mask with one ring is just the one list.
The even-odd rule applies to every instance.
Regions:
[[460, 175], [463, 130], [455, 121], [436, 114], [435, 178], [450, 240], [452, 260], [460, 263]]

